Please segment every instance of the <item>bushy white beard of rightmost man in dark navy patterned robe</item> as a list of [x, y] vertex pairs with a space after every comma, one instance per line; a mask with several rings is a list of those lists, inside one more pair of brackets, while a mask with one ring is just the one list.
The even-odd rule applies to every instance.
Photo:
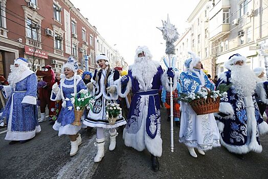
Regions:
[[256, 88], [257, 77], [246, 64], [232, 65], [230, 81], [239, 95], [251, 96]]

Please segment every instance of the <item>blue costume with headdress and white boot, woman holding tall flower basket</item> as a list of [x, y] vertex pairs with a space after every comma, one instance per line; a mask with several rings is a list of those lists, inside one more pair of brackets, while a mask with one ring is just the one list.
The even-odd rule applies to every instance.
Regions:
[[[74, 76], [72, 78], [65, 78], [63, 73], [66, 68], [74, 72]], [[77, 61], [73, 57], [69, 57], [68, 61], [62, 66], [59, 86], [57, 83], [52, 86], [50, 99], [52, 101], [62, 100], [60, 114], [53, 125], [53, 129], [59, 131], [58, 136], [76, 135], [81, 129], [81, 125], [77, 126], [72, 124], [75, 121], [74, 104], [71, 101], [71, 98], [73, 98], [72, 94], [74, 94], [74, 92], [79, 93], [82, 89], [86, 89], [82, 78], [76, 73], [78, 68]], [[79, 133], [77, 140], [71, 141], [71, 156], [77, 153], [78, 146], [80, 144], [81, 136]]]

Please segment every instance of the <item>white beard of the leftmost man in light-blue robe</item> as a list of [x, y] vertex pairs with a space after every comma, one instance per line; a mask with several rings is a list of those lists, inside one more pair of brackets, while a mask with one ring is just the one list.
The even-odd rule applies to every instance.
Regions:
[[8, 82], [12, 87], [16, 86], [16, 83], [19, 82], [21, 74], [28, 70], [29, 68], [23, 65], [19, 65], [18, 67], [15, 67], [15, 65], [10, 66], [10, 74], [8, 76]]

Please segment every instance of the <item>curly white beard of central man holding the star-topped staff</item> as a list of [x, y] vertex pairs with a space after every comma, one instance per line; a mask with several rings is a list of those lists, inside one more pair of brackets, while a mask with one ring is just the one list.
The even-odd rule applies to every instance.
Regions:
[[158, 66], [154, 61], [145, 57], [135, 58], [135, 63], [132, 66], [133, 76], [141, 76], [145, 84], [149, 84], [153, 76], [157, 73]]

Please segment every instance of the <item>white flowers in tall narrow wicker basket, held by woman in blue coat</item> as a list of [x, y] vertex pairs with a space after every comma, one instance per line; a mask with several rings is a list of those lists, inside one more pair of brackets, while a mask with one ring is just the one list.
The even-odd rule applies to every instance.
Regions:
[[90, 96], [90, 93], [85, 89], [81, 89], [79, 93], [72, 94], [72, 96], [73, 98], [71, 98], [71, 102], [74, 105], [75, 111], [75, 121], [72, 124], [80, 126], [84, 109], [92, 109], [95, 99], [94, 97]]

